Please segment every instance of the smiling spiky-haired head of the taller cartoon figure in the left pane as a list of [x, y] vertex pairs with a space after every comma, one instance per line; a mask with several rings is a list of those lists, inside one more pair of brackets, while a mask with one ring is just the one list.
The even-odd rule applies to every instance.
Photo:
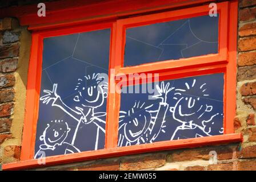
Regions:
[[[79, 82], [76, 89], [79, 89], [78, 94], [74, 97], [74, 101], [80, 104], [79, 107], [91, 107], [97, 108], [102, 106], [105, 98], [107, 98], [107, 82], [104, 81], [104, 78], [101, 79], [97, 75], [86, 76], [85, 82], [78, 79]], [[86, 86], [87, 85], [87, 86]]]

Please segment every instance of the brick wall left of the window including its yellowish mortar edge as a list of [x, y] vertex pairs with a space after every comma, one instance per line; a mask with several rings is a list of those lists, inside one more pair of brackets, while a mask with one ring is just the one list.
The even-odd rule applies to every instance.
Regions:
[[30, 36], [17, 19], [0, 19], [0, 169], [21, 154]]

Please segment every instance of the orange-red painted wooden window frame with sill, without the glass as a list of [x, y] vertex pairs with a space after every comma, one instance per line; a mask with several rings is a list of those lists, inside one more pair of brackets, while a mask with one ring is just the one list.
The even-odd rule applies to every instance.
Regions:
[[[226, 48], [222, 47], [223, 50], [226, 50], [225, 53], [214, 61], [219, 61], [217, 64], [202, 64], [198, 67], [191, 65], [191, 67], [186, 67], [183, 71], [175, 68], [162, 74], [170, 75], [170, 72], [173, 72], [173, 75], [177, 73], [178, 77], [187, 76], [188, 73], [191, 74], [203, 74], [208, 71], [216, 72], [225, 72], [225, 92], [224, 92], [224, 113], [225, 113], [225, 134], [216, 135], [211, 137], [202, 137], [202, 138], [191, 138], [191, 139], [182, 139], [182, 140], [171, 140], [163, 142], [155, 142], [151, 144], [141, 144], [139, 146], [127, 146], [127, 147], [117, 147], [118, 140], [118, 108], [120, 102], [120, 94], [110, 93], [107, 100], [107, 121], [106, 121], [106, 143], [105, 149], [97, 151], [85, 151], [75, 154], [67, 155], [58, 155], [58, 156], [49, 156], [46, 157], [46, 166], [54, 164], [64, 164], [70, 162], [80, 162], [84, 160], [92, 160], [99, 158], [108, 158], [113, 156], [129, 155], [129, 154], [138, 154], [142, 152], [149, 151], [158, 151], [158, 150], [170, 150], [174, 148], [185, 148], [185, 147], [197, 147], [205, 146], [208, 144], [221, 144], [229, 142], [241, 142], [242, 135], [234, 134], [233, 119], [235, 117], [235, 105], [236, 105], [236, 54], [237, 54], [237, 10], [238, 10], [238, 1], [233, 0], [230, 2], [219, 3], [222, 6], [221, 13], [226, 12], [227, 24], [226, 30], [227, 34], [223, 35], [223, 38], [226, 40]], [[201, 8], [205, 6], [200, 6]], [[200, 10], [202, 10], [200, 8]], [[198, 10], [199, 7], [191, 8], [191, 11], [195, 9]], [[195, 11], [194, 10], [194, 11]], [[231, 11], [233, 10], [233, 11]], [[191, 12], [190, 11], [190, 12]], [[186, 9], [175, 10], [179, 12], [180, 15], [186, 15], [188, 12]], [[160, 13], [163, 14], [163, 13]], [[153, 16], [153, 15], [146, 15]], [[145, 16], [143, 16], [145, 17]], [[138, 17], [134, 17], [138, 18]], [[122, 68], [122, 56], [123, 47], [118, 46], [122, 45], [122, 41], [119, 39], [123, 35], [123, 31], [119, 31], [118, 26], [122, 20], [117, 22], [108, 22], [111, 24], [111, 47], [110, 47], [110, 68], [114, 68], [118, 71], [126, 71], [126, 73], [133, 73], [133, 70]], [[143, 19], [145, 21], [145, 19]], [[91, 26], [78, 26], [77, 24], [73, 27], [57, 28], [53, 30], [42, 30], [35, 31], [32, 34], [32, 45], [31, 45], [31, 55], [30, 55], [30, 64], [29, 64], [29, 73], [28, 73], [28, 82], [27, 82], [27, 99], [26, 99], [26, 114], [23, 127], [23, 140], [22, 140], [22, 154], [21, 161], [9, 164], [3, 164], [2, 169], [25, 169], [32, 167], [42, 167], [39, 165], [36, 159], [33, 159], [34, 155], [34, 142], [35, 142], [35, 132], [38, 119], [38, 105], [39, 105], [39, 88], [41, 82], [41, 64], [42, 64], [42, 49], [43, 49], [43, 38], [49, 36], [57, 35], [67, 35], [72, 32], [82, 32], [97, 30], [101, 28], [99, 24], [92, 24]], [[223, 21], [220, 21], [221, 26], [225, 27]], [[228, 26], [229, 25], [229, 26]], [[106, 26], [106, 24], [105, 24]], [[86, 27], [86, 28], [85, 28]], [[225, 29], [225, 28], [224, 28]], [[120, 42], [121, 41], [121, 42]], [[223, 40], [219, 40], [221, 43]], [[221, 48], [221, 46], [220, 46]], [[221, 53], [222, 51], [219, 51]], [[216, 55], [209, 55], [209, 57], [214, 57]], [[219, 54], [218, 54], [219, 56]], [[202, 56], [205, 59], [204, 56]], [[200, 58], [200, 56], [198, 57]], [[216, 58], [216, 57], [215, 57]], [[193, 60], [193, 58], [191, 58]], [[179, 60], [181, 61], [181, 60]], [[173, 62], [172, 62], [173, 63]], [[145, 64], [146, 65], [146, 64]], [[147, 72], [150, 71], [149, 68], [146, 68], [145, 65], [140, 65], [136, 67], [136, 72]], [[178, 65], [181, 66], [181, 65]], [[162, 65], [159, 64], [159, 68]], [[159, 70], [162, 70], [159, 69]], [[164, 76], [164, 75], [163, 75]], [[109, 76], [109, 83], [115, 86], [115, 79], [113, 75]], [[110, 89], [110, 88], [109, 88]], [[227, 109], [228, 108], [228, 109]], [[115, 114], [113, 113], [115, 111]]]

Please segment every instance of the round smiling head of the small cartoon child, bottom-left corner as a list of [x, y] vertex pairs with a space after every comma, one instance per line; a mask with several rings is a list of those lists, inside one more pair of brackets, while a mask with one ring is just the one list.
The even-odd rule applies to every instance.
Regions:
[[53, 147], [55, 144], [62, 144], [69, 133], [70, 128], [67, 123], [63, 123], [63, 121], [51, 121], [47, 124], [45, 131], [43, 131], [43, 135], [41, 135], [40, 140], [49, 146]]

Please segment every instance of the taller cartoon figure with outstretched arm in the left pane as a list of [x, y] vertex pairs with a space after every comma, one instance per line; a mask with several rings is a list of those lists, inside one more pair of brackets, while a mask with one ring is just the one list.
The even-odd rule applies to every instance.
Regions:
[[92, 124], [97, 127], [97, 131], [95, 131], [94, 149], [98, 149], [98, 136], [99, 133], [105, 133], [106, 125], [106, 121], [101, 119], [101, 117], [104, 117], [106, 113], [96, 113], [94, 110], [98, 107], [101, 107], [106, 101], [108, 84], [105, 79], [106, 74], [104, 73], [93, 73], [93, 75], [87, 75], [83, 79], [79, 78], [78, 84], [75, 87], [75, 90], [78, 92], [73, 99], [77, 104], [75, 109], [71, 109], [61, 100], [61, 97], [57, 94], [58, 84], [53, 84], [53, 90], [51, 91], [43, 90], [43, 92], [46, 93], [45, 96], [40, 98], [43, 104], [49, 104], [51, 102], [51, 106], [59, 107], [78, 122], [71, 144], [75, 143], [78, 129], [82, 123], [84, 125]]

